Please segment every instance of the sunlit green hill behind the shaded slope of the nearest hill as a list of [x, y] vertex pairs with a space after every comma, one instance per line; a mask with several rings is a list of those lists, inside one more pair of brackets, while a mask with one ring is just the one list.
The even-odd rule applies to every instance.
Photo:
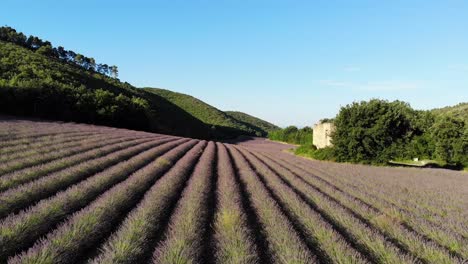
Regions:
[[[268, 127], [274, 127], [274, 125], [252, 116], [249, 116], [250, 118], [246, 118], [247, 115], [245, 114], [230, 115], [229, 113], [223, 112], [216, 107], [187, 94], [160, 88], [144, 88], [144, 90], [167, 99], [190, 115], [213, 126], [216, 130], [222, 131], [225, 134], [236, 134], [239, 133], [236, 131], [240, 131], [240, 133], [247, 135], [266, 136], [268, 131], [254, 125], [253, 123], [261, 123], [266, 124]], [[239, 120], [237, 117], [243, 118], [244, 120], [248, 119], [250, 122]], [[251, 123], [251, 121], [254, 122]]]

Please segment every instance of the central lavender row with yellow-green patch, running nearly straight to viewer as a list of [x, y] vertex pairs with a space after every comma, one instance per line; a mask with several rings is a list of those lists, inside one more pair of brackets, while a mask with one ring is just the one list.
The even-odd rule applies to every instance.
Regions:
[[214, 218], [216, 263], [259, 263], [257, 247], [242, 207], [239, 185], [226, 147], [218, 148], [218, 208]]

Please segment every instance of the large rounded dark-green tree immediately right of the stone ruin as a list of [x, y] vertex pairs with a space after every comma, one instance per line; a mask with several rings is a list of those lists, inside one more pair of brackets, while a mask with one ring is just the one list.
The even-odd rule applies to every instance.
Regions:
[[404, 102], [373, 99], [342, 107], [332, 135], [338, 161], [385, 163], [411, 135], [414, 110]]

